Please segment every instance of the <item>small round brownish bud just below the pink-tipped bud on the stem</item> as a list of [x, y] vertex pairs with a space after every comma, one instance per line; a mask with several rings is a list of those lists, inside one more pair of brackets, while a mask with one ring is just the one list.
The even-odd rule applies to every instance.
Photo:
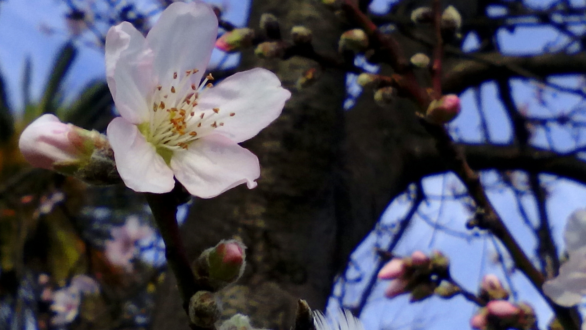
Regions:
[[202, 328], [211, 328], [222, 314], [220, 299], [210, 291], [197, 291], [189, 299], [189, 320]]

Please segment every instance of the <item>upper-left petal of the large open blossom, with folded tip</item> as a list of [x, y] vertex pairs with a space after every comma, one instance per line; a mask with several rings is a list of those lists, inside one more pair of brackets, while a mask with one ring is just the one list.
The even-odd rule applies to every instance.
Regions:
[[113, 26], [106, 35], [108, 87], [120, 115], [133, 124], [148, 120], [153, 53], [144, 36], [131, 23]]

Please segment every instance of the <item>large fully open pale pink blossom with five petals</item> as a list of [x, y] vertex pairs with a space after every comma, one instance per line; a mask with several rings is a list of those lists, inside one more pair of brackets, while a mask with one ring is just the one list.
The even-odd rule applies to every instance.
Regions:
[[260, 68], [200, 83], [216, 36], [216, 15], [202, 1], [169, 5], [146, 38], [129, 22], [108, 31], [106, 74], [121, 117], [107, 135], [133, 190], [171, 191], [173, 176], [202, 198], [256, 186], [258, 159], [238, 143], [275, 120], [291, 93]]

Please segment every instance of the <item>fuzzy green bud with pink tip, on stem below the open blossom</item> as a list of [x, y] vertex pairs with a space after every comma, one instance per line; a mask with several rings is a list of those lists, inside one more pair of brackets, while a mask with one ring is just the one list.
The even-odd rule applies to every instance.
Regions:
[[192, 265], [196, 280], [214, 291], [236, 282], [246, 267], [245, 249], [240, 241], [222, 240], [203, 251]]

